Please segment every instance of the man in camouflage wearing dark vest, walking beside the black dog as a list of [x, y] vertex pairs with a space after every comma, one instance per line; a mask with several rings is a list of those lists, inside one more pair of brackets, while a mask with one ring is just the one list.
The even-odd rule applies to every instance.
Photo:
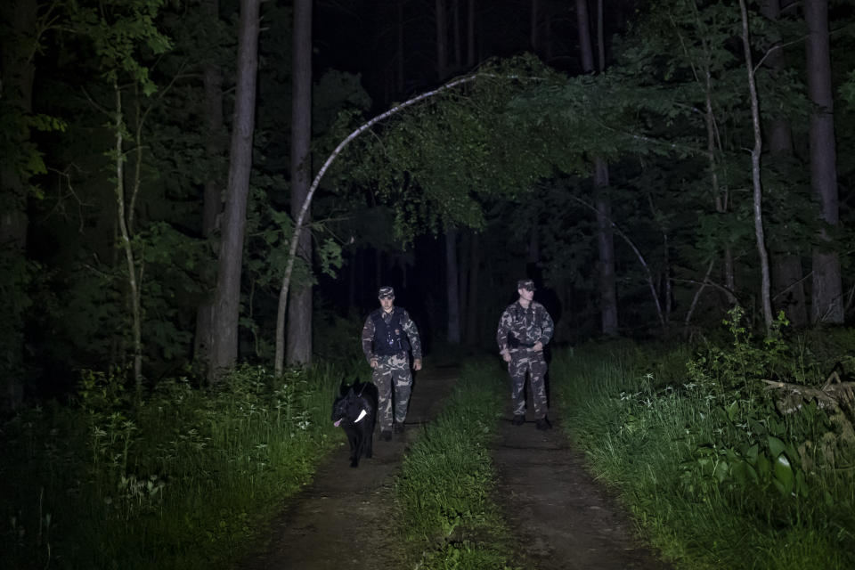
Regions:
[[403, 433], [412, 388], [407, 352], [412, 351], [412, 369], [421, 370], [421, 340], [410, 314], [395, 306], [395, 291], [391, 287], [381, 287], [378, 298], [380, 308], [368, 315], [362, 327], [362, 352], [373, 369], [371, 379], [379, 393], [380, 439], [389, 441], [393, 428], [395, 433]]

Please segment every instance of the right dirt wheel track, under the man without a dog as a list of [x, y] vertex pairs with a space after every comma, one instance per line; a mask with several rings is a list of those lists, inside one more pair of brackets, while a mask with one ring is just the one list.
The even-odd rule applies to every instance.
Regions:
[[[539, 431], [531, 415], [522, 426], [514, 426], [512, 417], [508, 404], [493, 461], [497, 501], [524, 549], [515, 564], [525, 570], [671, 567], [634, 539], [629, 518], [587, 473], [584, 457], [570, 448], [560, 422], [553, 419], [552, 429]], [[553, 417], [558, 417], [554, 409]]]

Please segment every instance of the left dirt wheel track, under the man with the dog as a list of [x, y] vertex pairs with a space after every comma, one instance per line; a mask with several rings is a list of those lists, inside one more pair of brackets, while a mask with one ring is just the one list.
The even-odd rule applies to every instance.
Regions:
[[346, 443], [330, 453], [312, 485], [273, 524], [266, 550], [237, 568], [397, 570], [397, 532], [389, 523], [392, 483], [407, 442], [442, 409], [457, 372], [457, 368], [437, 367], [420, 371], [413, 383], [403, 436], [381, 442], [376, 432], [374, 456], [361, 460], [358, 468], [350, 468]]

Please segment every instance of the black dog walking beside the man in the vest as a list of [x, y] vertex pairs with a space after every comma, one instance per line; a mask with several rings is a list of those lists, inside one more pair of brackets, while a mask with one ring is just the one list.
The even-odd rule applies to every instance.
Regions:
[[350, 467], [359, 467], [359, 459], [371, 457], [374, 422], [377, 420], [377, 387], [355, 382], [342, 382], [340, 394], [332, 403], [332, 422], [342, 428], [350, 443]]

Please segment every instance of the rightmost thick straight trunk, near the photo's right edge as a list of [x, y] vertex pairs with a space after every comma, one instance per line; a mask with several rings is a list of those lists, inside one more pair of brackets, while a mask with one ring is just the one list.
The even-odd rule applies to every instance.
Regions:
[[[809, 127], [810, 185], [819, 198], [822, 221], [835, 226], [838, 224], [837, 150], [828, 44], [828, 0], [805, 0], [803, 5], [804, 20], [808, 25], [808, 94], [814, 105]], [[820, 232], [819, 240], [830, 241], [828, 232]], [[843, 322], [840, 259], [830, 247], [813, 249], [811, 319], [813, 322]]]

